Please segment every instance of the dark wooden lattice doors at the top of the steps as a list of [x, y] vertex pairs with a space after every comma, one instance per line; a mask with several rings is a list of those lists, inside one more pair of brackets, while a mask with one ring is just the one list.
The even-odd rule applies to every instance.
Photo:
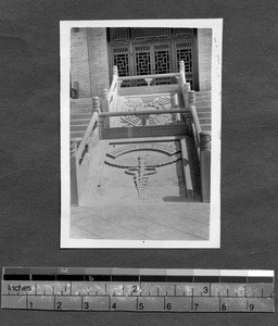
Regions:
[[[190, 28], [173, 30], [173, 37], [166, 39], [149, 40], [144, 33], [135, 35], [129, 39], [127, 34], [111, 45], [111, 72], [113, 65], [117, 65], [119, 76], [156, 75], [179, 72], [179, 61], [185, 62], [186, 78], [191, 88], [198, 90], [198, 55], [197, 36]], [[146, 30], [144, 30], [146, 32]], [[148, 32], [148, 30], [147, 30]], [[146, 33], [147, 33], [146, 32]], [[148, 34], [148, 33], [147, 33]], [[156, 78], [153, 84], [170, 84], [170, 78]], [[175, 82], [174, 82], [175, 83]], [[147, 85], [141, 79], [138, 82], [125, 82], [125, 86]]]

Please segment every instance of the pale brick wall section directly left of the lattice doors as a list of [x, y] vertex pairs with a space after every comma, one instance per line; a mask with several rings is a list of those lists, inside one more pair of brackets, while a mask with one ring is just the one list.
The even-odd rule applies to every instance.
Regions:
[[91, 77], [91, 93], [100, 97], [109, 89], [109, 58], [105, 28], [88, 28], [88, 52]]

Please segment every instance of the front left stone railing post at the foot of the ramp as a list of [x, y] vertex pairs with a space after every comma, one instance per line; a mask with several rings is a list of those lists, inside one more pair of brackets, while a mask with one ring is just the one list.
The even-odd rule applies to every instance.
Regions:
[[71, 205], [78, 206], [78, 162], [76, 160], [77, 143], [70, 142], [70, 167], [71, 167]]

